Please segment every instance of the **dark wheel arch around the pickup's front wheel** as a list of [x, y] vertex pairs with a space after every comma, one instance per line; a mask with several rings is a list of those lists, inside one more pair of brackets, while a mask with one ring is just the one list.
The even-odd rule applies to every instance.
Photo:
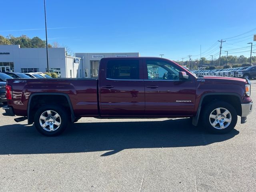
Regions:
[[[224, 97], [224, 96], [226, 96], [226, 97]], [[205, 106], [209, 102], [212, 102], [213, 100], [221, 100], [221, 101], [227, 102], [229, 104], [232, 104], [232, 106], [234, 106], [238, 116], [242, 115], [242, 107], [241, 107], [242, 98], [239, 96], [239, 94], [225, 93], [225, 92], [206, 93], [206, 94], [202, 95], [202, 97], [200, 98], [196, 116], [193, 117], [193, 119], [192, 119], [192, 124], [194, 126], [197, 126], [197, 124], [198, 124], [198, 119], [200, 118], [200, 112], [201, 112], [203, 106]]]

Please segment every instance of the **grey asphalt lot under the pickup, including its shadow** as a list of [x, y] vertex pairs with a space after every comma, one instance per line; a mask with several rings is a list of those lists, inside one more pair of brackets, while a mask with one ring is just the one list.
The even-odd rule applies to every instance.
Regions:
[[256, 191], [255, 106], [246, 124], [238, 117], [225, 135], [189, 119], [82, 118], [45, 137], [1, 114], [1, 192]]

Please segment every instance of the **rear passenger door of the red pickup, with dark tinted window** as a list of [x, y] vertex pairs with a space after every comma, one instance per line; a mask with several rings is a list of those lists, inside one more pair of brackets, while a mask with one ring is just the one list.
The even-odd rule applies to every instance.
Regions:
[[144, 115], [145, 90], [140, 58], [105, 60], [100, 71], [102, 116]]

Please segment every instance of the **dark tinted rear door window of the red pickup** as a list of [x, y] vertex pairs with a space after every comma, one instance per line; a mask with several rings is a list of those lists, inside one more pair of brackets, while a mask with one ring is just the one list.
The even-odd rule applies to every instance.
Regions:
[[138, 60], [113, 60], [107, 64], [107, 78], [110, 79], [139, 79]]

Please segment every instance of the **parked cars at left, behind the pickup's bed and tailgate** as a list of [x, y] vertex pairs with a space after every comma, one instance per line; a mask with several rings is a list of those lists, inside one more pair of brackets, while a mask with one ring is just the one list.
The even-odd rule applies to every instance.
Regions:
[[52, 78], [47, 74], [38, 73], [15, 73], [15, 72], [0, 72], [0, 104], [6, 102], [5, 86], [6, 79], [12, 78]]

